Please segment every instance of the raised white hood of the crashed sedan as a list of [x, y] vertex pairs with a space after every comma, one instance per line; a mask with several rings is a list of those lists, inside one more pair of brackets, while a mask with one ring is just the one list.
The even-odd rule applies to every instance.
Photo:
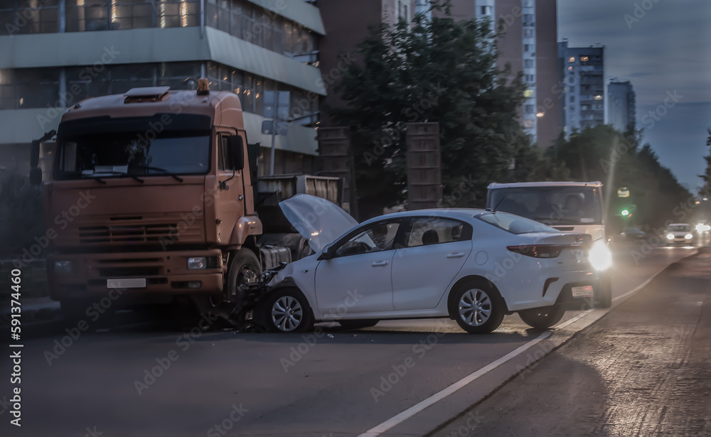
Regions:
[[324, 198], [297, 194], [279, 202], [289, 223], [304, 237], [314, 252], [358, 225], [348, 212]]

